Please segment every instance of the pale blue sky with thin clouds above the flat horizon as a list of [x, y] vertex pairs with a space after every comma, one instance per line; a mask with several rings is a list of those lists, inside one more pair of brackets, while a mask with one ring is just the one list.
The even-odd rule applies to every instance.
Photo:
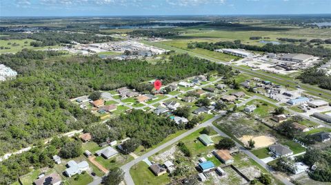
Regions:
[[331, 14], [331, 0], [0, 0], [0, 17]]

